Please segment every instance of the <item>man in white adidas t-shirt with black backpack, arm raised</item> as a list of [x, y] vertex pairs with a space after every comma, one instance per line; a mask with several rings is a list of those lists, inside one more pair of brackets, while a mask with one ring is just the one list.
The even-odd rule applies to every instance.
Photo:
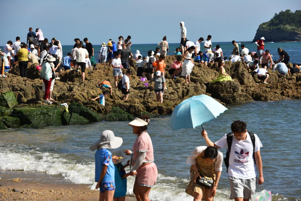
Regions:
[[[225, 148], [228, 150], [228, 143], [231, 144], [228, 157], [226, 155], [229, 165], [230, 199], [248, 201], [252, 199], [256, 190], [254, 161], [259, 171], [258, 184], [261, 185], [264, 182], [260, 155], [262, 144], [256, 134], [247, 132], [247, 124], [243, 121], [234, 121], [231, 124], [231, 131], [231, 133], [226, 134], [216, 143], [209, 140], [206, 130], [202, 131], [202, 136], [208, 146], [215, 146], [218, 149]], [[253, 138], [255, 146], [253, 146], [251, 138]]]

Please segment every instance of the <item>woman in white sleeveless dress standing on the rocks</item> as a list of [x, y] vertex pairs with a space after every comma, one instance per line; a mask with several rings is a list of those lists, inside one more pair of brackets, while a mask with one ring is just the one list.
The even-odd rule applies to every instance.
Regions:
[[185, 76], [185, 83], [189, 84], [190, 83], [190, 74], [192, 71], [192, 68], [194, 66], [194, 61], [191, 58], [192, 57], [192, 52], [194, 52], [195, 47], [191, 46], [188, 48], [183, 55], [184, 58], [184, 63], [182, 67], [182, 76]]

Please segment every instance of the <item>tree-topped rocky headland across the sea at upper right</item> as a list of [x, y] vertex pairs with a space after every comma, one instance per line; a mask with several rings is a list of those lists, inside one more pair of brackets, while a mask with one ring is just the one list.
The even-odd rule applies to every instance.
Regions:
[[275, 13], [274, 17], [259, 25], [252, 42], [265, 37], [265, 42], [301, 41], [301, 10]]

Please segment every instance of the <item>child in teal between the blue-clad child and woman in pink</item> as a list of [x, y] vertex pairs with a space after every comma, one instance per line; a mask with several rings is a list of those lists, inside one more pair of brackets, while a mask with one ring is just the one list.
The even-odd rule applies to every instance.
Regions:
[[114, 201], [125, 201], [126, 199], [126, 177], [130, 176], [130, 173], [126, 173], [125, 168], [130, 165], [130, 160], [128, 160], [126, 165], [121, 163], [125, 161], [125, 155], [120, 149], [114, 149], [112, 155], [118, 157], [118, 160], [114, 162], [115, 166], [115, 193]]

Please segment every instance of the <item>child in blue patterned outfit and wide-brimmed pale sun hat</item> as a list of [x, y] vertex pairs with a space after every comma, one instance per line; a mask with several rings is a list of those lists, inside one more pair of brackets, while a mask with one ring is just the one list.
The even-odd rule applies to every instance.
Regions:
[[122, 138], [115, 137], [112, 130], [104, 130], [100, 140], [95, 142], [90, 149], [95, 153], [95, 182], [99, 188], [99, 200], [112, 201], [115, 192], [115, 167], [112, 153], [108, 149], [116, 149], [122, 145]]

